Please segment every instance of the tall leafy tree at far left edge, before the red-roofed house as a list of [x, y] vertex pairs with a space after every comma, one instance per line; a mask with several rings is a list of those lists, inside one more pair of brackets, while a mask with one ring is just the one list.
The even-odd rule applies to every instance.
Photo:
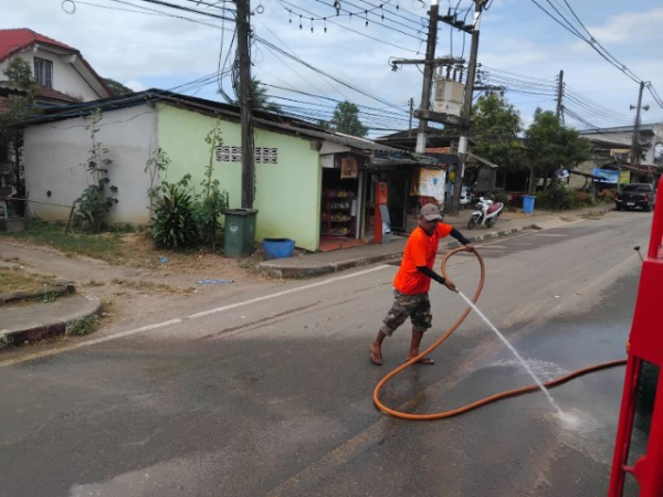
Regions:
[[[0, 163], [0, 168], [9, 173], [9, 183], [17, 190], [18, 197], [24, 198], [23, 128], [19, 124], [39, 112], [34, 105], [38, 85], [32, 77], [30, 63], [24, 59], [13, 57], [3, 73], [10, 83], [23, 91], [24, 95], [10, 96], [4, 104], [3, 113], [0, 114], [0, 149], [6, 150], [10, 159], [7, 165]], [[22, 209], [19, 214], [22, 214]]]

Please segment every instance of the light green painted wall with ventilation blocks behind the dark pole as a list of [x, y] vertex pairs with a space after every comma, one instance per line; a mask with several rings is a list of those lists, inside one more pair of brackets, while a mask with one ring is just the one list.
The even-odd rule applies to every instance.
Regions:
[[[186, 173], [196, 188], [203, 180], [209, 162], [204, 137], [214, 118], [191, 110], [158, 104], [158, 146], [170, 157], [168, 180]], [[223, 145], [241, 146], [239, 123], [221, 121]], [[278, 149], [278, 163], [255, 165], [256, 241], [287, 237], [296, 246], [316, 251], [319, 244], [319, 199], [322, 168], [319, 155], [308, 138], [282, 135], [255, 128], [255, 147]], [[231, 209], [242, 202], [242, 166], [214, 159], [214, 177], [230, 195]]]

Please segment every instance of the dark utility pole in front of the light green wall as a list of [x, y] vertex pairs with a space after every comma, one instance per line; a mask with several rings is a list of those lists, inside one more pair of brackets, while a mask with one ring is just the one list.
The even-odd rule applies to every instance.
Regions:
[[251, 88], [250, 0], [234, 0], [236, 4], [238, 53], [240, 63], [240, 105], [242, 125], [242, 208], [253, 209], [255, 200], [255, 158], [253, 149], [253, 95]]

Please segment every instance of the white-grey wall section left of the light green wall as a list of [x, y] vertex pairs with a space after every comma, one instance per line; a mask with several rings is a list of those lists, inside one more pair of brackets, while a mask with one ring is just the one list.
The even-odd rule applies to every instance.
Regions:
[[[92, 148], [88, 124], [90, 118], [77, 117], [25, 129], [25, 188], [30, 212], [38, 218], [65, 221], [73, 202], [91, 183], [83, 166]], [[144, 169], [149, 150], [158, 146], [156, 131], [156, 110], [150, 105], [113, 110], [102, 117], [96, 139], [114, 161], [108, 167], [109, 184], [118, 189], [110, 223], [149, 221], [150, 180]]]

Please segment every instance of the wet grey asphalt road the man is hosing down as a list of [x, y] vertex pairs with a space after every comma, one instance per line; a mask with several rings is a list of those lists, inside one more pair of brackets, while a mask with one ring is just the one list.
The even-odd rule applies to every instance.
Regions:
[[[648, 245], [650, 225], [651, 214], [611, 213], [480, 247], [478, 306], [543, 380], [622, 359], [640, 269], [632, 247]], [[385, 366], [369, 363], [394, 272], [285, 282], [253, 304], [0, 366], [0, 494], [606, 495], [623, 368], [551, 391], [572, 424], [540, 393], [432, 422], [373, 408], [375, 384], [409, 340], [403, 326]], [[472, 293], [470, 256], [450, 274]], [[441, 287], [431, 299], [424, 345], [464, 308]], [[473, 315], [432, 356], [435, 366], [403, 372], [381, 399], [429, 413], [530, 383]]]

